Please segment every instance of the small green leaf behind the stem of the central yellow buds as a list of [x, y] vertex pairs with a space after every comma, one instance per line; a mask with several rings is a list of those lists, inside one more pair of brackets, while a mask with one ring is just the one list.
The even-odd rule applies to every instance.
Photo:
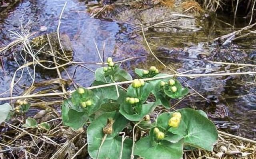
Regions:
[[128, 97], [139, 98], [140, 103], [143, 104], [144, 102], [146, 102], [150, 92], [153, 90], [153, 85], [148, 83], [148, 82], [145, 82], [145, 85], [138, 88], [138, 90], [139, 90], [138, 91], [139, 95], [136, 92], [136, 88], [133, 88], [132, 84], [130, 84], [130, 86], [127, 89], [127, 96]]

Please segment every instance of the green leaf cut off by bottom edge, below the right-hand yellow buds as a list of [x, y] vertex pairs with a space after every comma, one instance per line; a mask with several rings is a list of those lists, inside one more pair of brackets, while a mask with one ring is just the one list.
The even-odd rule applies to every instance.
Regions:
[[170, 143], [162, 140], [151, 145], [150, 136], [140, 139], [135, 145], [134, 154], [144, 159], [181, 159], [183, 153], [183, 140]]

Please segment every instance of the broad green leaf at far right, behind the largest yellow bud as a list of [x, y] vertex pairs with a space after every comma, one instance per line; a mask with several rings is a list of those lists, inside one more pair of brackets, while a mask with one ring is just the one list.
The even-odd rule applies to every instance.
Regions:
[[[172, 117], [172, 113], [162, 113], [158, 116], [154, 126], [162, 128], [162, 131], [168, 130], [168, 141], [175, 141], [178, 138], [184, 138], [185, 145], [213, 150], [213, 145], [217, 142], [218, 132], [214, 124], [198, 111], [191, 108], [183, 108], [178, 110], [182, 114], [182, 119], [178, 128], [170, 128], [168, 120]], [[177, 136], [178, 135], [178, 136]]]

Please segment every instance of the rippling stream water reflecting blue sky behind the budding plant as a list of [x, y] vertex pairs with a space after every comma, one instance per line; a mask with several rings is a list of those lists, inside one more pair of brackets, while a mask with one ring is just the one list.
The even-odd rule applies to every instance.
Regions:
[[[133, 31], [134, 26], [132, 24], [90, 18], [86, 12], [85, 2], [78, 2], [77, 0], [23, 0], [13, 10], [3, 12], [0, 21], [0, 47], [13, 40], [8, 30], [20, 31], [21, 24], [29, 28], [31, 32], [38, 31], [36, 35], [56, 32], [60, 12], [66, 1], [67, 5], [62, 16], [60, 32], [67, 34], [71, 40], [74, 61], [100, 62], [94, 41], [100, 53], [102, 53], [105, 43], [105, 57], [113, 56], [115, 59], [122, 60], [150, 55], [142, 35]], [[202, 68], [206, 70], [197, 70], [192, 73], [255, 70], [255, 68], [238, 68], [234, 65], [207, 62], [255, 64], [256, 54], [254, 50], [256, 48], [255, 45], [241, 47], [236, 44], [222, 46], [221, 42], [202, 43], [202, 41], [223, 35], [228, 30], [232, 31], [233, 28], [216, 17], [204, 18], [201, 22], [200, 25], [203, 28], [200, 31], [185, 33], [147, 31], [146, 38], [156, 55], [166, 65], [178, 72]], [[39, 31], [42, 27], [47, 29]], [[5, 56], [1, 57], [4, 67], [0, 70], [0, 93], [8, 90], [13, 73], [18, 68], [12, 53], [18, 55], [19, 49], [15, 48], [8, 51]], [[148, 69], [151, 65], [158, 66], [164, 73], [170, 73], [170, 70], [164, 69], [152, 56], [122, 63], [122, 67], [130, 72], [135, 67]], [[95, 70], [98, 66], [86, 65], [86, 67]], [[28, 69], [31, 71], [31, 68]], [[73, 77], [74, 82], [78, 85], [89, 86], [94, 80], [92, 78], [93, 73], [83, 67], [69, 66], [66, 71], [62, 71], [63, 78], [68, 78], [67, 73]], [[20, 75], [21, 72], [18, 72], [16, 79]], [[36, 72], [36, 82], [46, 79], [51, 79], [47, 71], [44, 75]], [[184, 77], [182, 79], [202, 96], [215, 96], [218, 98], [218, 102], [212, 108], [211, 104], [195, 94], [180, 102], [178, 107], [191, 106], [204, 109], [208, 111], [209, 116], [216, 123], [226, 122], [228, 126], [224, 130], [255, 139], [256, 115], [255, 112], [250, 112], [250, 110], [256, 109], [255, 76], [199, 77], [194, 79]], [[31, 82], [28, 71], [25, 70], [22, 79], [14, 89], [14, 94], [21, 94], [22, 90], [26, 86], [30, 86]], [[2, 96], [9, 96], [9, 93], [2, 94]], [[176, 102], [173, 101], [173, 104]], [[212, 113], [217, 114], [217, 116], [212, 116]], [[238, 128], [236, 126], [239, 129], [233, 129]]]

